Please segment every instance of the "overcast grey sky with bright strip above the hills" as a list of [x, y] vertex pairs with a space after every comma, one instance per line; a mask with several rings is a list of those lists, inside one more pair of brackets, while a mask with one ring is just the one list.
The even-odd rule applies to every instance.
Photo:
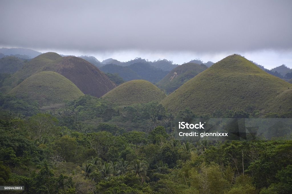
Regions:
[[0, 47], [292, 68], [292, 1], [0, 1]]

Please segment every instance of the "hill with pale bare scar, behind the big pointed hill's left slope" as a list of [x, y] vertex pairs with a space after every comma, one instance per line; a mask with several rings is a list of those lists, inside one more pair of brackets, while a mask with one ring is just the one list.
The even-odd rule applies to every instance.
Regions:
[[158, 88], [165, 90], [167, 94], [170, 94], [207, 68], [208, 67], [204, 64], [185, 63], [171, 70], [171, 72], [169, 72], [156, 85]]

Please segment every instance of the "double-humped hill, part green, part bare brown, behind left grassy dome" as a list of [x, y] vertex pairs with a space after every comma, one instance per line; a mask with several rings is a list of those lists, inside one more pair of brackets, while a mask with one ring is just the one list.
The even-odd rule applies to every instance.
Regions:
[[41, 54], [25, 64], [11, 77], [11, 86], [42, 71], [57, 72], [72, 81], [84, 94], [95, 97], [101, 97], [115, 87], [104, 73], [88, 61], [74, 56], [62, 57], [53, 52]]

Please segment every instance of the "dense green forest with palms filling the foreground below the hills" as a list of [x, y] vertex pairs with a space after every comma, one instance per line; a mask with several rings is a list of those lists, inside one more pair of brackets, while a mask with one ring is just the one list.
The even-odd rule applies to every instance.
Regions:
[[25, 187], [7, 193], [291, 193], [291, 140], [175, 140], [178, 120], [218, 111], [172, 115], [157, 102], [90, 95], [40, 109], [2, 94], [0, 106], [0, 185]]

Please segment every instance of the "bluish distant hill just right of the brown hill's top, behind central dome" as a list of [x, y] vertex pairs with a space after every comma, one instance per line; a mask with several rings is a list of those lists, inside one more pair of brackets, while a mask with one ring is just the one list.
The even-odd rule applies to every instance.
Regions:
[[123, 66], [114, 65], [114, 64], [107, 64], [105, 66], [100, 67], [99, 69], [105, 73], [118, 74], [125, 81], [130, 81], [134, 79], [142, 79], [141, 76], [139, 76], [136, 72], [131, 70], [129, 67], [123, 67]]

